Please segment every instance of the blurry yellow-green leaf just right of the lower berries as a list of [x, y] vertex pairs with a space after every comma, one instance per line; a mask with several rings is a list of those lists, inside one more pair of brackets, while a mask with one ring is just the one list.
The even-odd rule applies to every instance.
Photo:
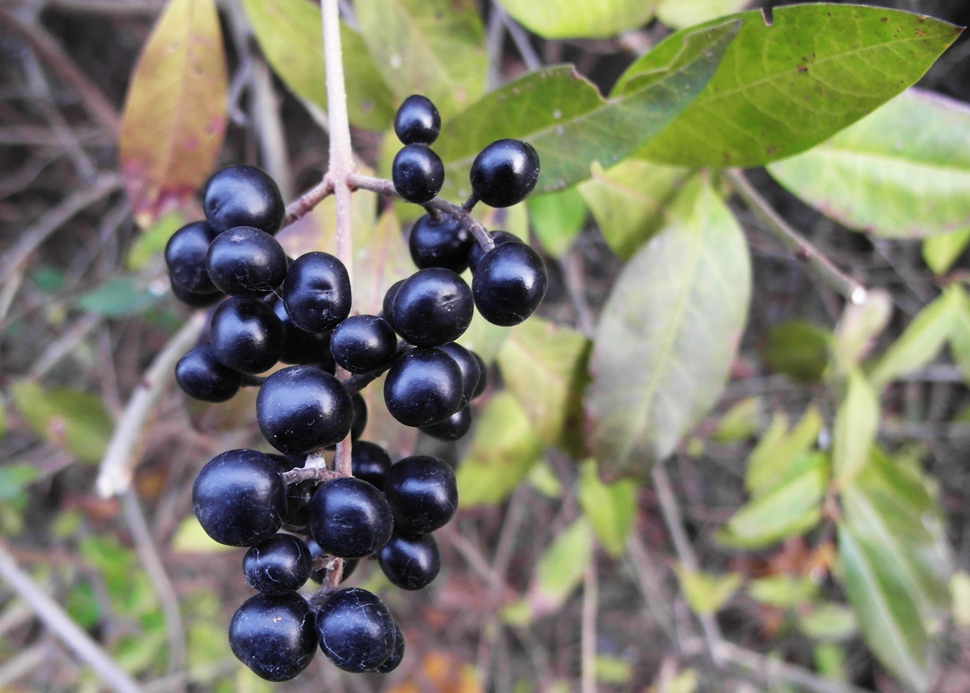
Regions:
[[515, 397], [497, 394], [478, 416], [468, 457], [456, 473], [461, 507], [500, 504], [529, 473], [542, 448]]

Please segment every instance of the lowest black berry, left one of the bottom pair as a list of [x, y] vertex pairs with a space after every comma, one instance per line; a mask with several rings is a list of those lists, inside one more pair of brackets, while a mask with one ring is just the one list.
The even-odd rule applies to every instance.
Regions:
[[313, 612], [296, 592], [253, 595], [229, 622], [233, 654], [256, 676], [285, 681], [307, 669], [316, 654]]

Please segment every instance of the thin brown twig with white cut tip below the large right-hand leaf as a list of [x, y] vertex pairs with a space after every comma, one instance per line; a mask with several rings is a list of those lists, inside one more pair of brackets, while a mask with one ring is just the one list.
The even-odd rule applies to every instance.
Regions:
[[725, 169], [723, 174], [730, 186], [734, 188], [734, 192], [764, 224], [765, 229], [783, 246], [792, 250], [796, 258], [808, 263], [809, 267], [819, 273], [825, 283], [846, 300], [856, 305], [865, 303], [867, 295], [865, 286], [843, 273], [819, 248], [810, 244], [795, 231], [780, 214], [775, 212], [768, 201], [761, 197], [740, 169]]

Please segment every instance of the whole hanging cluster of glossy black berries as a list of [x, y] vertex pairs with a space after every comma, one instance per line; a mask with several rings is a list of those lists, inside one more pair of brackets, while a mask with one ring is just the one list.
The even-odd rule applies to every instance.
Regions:
[[[402, 152], [412, 153], [395, 159], [394, 183], [405, 199], [430, 201], [443, 173], [422, 179], [427, 167], [408, 162], [424, 157], [440, 167], [427, 147], [439, 129], [437, 111], [428, 99], [409, 97], [395, 127]], [[537, 176], [533, 148], [493, 143], [475, 160], [466, 209], [478, 199], [520, 202]], [[434, 180], [426, 196], [434, 185], [425, 183]], [[422, 185], [425, 192], [412, 194]], [[473, 306], [496, 324], [526, 319], [545, 295], [545, 266], [531, 247], [501, 231], [492, 234], [495, 247], [483, 250], [457, 208], [435, 212], [410, 236], [419, 270], [390, 287], [382, 314], [350, 315], [350, 281], [339, 259], [308, 252], [290, 260], [275, 240], [284, 206], [265, 172], [251, 166], [217, 172], [203, 208], [206, 220], [183, 226], [166, 248], [170, 278], [191, 306], [225, 300], [211, 316], [210, 341], [179, 360], [176, 380], [207, 402], [259, 385], [256, 420], [281, 453], [223, 452], [193, 487], [196, 516], [210, 537], [249, 547], [243, 574], [260, 592], [233, 616], [233, 652], [275, 681], [300, 674], [317, 646], [344, 671], [390, 672], [404, 655], [404, 639], [375, 595], [327, 585], [307, 601], [297, 590], [310, 578], [323, 582], [334, 559], [343, 559], [346, 578], [367, 556], [393, 584], [427, 586], [440, 567], [432, 533], [451, 519], [458, 492], [442, 460], [417, 455], [392, 465], [382, 447], [357, 441], [367, 422], [359, 390], [386, 372], [384, 401], [398, 421], [457, 440], [469, 430], [469, 402], [485, 389], [486, 373], [481, 358], [455, 340], [469, 327]], [[459, 276], [469, 267], [470, 288]], [[291, 365], [258, 377], [279, 362]], [[338, 365], [351, 374], [346, 380], [337, 379]], [[341, 477], [322, 466], [322, 450], [348, 436], [356, 441], [352, 476]]]

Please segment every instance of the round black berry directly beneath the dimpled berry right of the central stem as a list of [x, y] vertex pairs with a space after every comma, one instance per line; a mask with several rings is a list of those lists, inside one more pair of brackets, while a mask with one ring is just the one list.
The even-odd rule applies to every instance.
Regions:
[[436, 424], [461, 408], [462, 371], [441, 349], [413, 348], [387, 372], [384, 404], [405, 426]]

